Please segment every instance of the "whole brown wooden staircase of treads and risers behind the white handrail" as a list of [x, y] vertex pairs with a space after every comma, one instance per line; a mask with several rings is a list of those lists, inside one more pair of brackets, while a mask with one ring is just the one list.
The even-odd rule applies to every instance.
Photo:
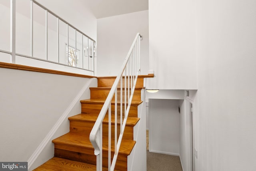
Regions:
[[[133, 140], [133, 127], [138, 123], [138, 105], [141, 101], [141, 89], [143, 88], [143, 80], [145, 77], [152, 76], [138, 76], [135, 87], [132, 105], [130, 107], [129, 116], [126, 122], [121, 147], [118, 154], [115, 170], [127, 170], [127, 156], [130, 155], [136, 141]], [[58, 137], [52, 142], [54, 143], [54, 157], [34, 169], [34, 171], [80, 171], [80, 170], [96, 170], [96, 156], [94, 155], [94, 148], [89, 140], [90, 131], [100, 113], [106, 97], [114, 83], [115, 77], [100, 77], [98, 78], [98, 87], [90, 88], [90, 99], [81, 100], [81, 113], [69, 117], [70, 132]], [[124, 78], [123, 78], [124, 80]], [[124, 82], [124, 81], [123, 81]], [[124, 86], [124, 85], [123, 85]], [[120, 93], [120, 84], [118, 86], [118, 93]], [[124, 91], [122, 91], [124, 93]], [[118, 97], [120, 97], [118, 95]], [[124, 111], [124, 103], [123, 111]], [[112, 137], [114, 137], [114, 97], [112, 99]], [[120, 113], [120, 103], [118, 105], [118, 112]], [[119, 114], [120, 115], [120, 114]], [[119, 120], [119, 119], [118, 119]], [[118, 135], [120, 132], [120, 120], [118, 121]], [[103, 162], [104, 168], [108, 170], [108, 113], [103, 121]], [[114, 140], [112, 139], [111, 149], [114, 149]], [[112, 151], [112, 157], [114, 150]]]

